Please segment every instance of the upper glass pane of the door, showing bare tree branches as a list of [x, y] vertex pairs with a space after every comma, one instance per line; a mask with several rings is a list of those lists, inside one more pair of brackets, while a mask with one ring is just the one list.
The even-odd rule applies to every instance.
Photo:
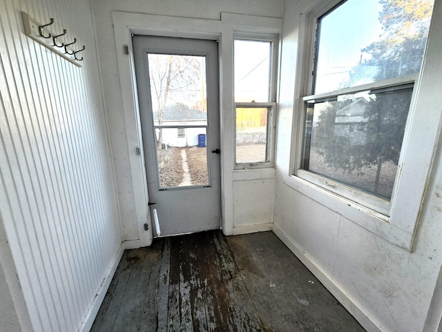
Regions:
[[148, 54], [153, 121], [207, 123], [206, 59]]

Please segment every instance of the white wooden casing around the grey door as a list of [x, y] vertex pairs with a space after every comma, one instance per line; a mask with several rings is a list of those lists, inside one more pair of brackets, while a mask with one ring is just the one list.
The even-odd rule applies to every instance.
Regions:
[[[220, 21], [207, 19], [185, 19], [177, 17], [163, 17], [158, 15], [134, 14], [128, 12], [113, 12], [113, 25], [115, 33], [115, 42], [117, 45], [117, 62], [119, 70], [119, 80], [122, 86], [123, 112], [126, 122], [126, 135], [128, 139], [128, 149], [131, 164], [131, 179], [133, 187], [133, 196], [135, 201], [135, 215], [137, 218], [137, 228], [140, 236], [138, 246], [150, 246], [153, 239], [152, 220], [148, 208], [148, 192], [146, 183], [146, 171], [144, 169], [144, 153], [142, 147], [140, 110], [138, 107], [137, 86], [135, 82], [135, 64], [133, 61], [132, 35], [151, 35], [158, 37], [184, 37], [193, 39], [211, 39], [222, 40], [222, 24]], [[232, 33], [232, 52], [233, 52], [233, 33]], [[220, 42], [221, 43], [221, 42]], [[218, 61], [222, 58], [222, 44], [218, 48]], [[128, 54], [127, 54], [128, 53]], [[233, 59], [231, 59], [231, 64]], [[224, 73], [226, 64], [222, 66], [219, 63], [220, 77], [228, 75]], [[231, 82], [233, 82], [233, 73], [231, 74]], [[222, 91], [222, 82], [220, 82], [220, 90]], [[221, 95], [221, 94], [220, 94]], [[220, 98], [222, 99], [222, 98]], [[225, 102], [220, 102], [220, 123], [222, 123], [223, 106]], [[233, 100], [232, 103], [233, 104]], [[231, 112], [230, 112], [231, 113]], [[223, 151], [224, 137], [220, 126], [220, 149]], [[233, 137], [233, 135], [231, 135]], [[139, 149], [135, 151], [135, 149]], [[137, 153], [140, 153], [137, 155]], [[225, 172], [221, 156], [221, 227], [224, 234], [233, 234], [233, 211], [231, 216], [227, 216], [225, 211], [226, 202], [224, 199], [225, 175], [231, 172]], [[233, 171], [233, 163], [232, 165]], [[232, 176], [230, 175], [230, 178]], [[230, 190], [230, 197], [233, 192]], [[228, 205], [233, 206], [232, 203]], [[231, 209], [228, 209], [231, 210]], [[226, 223], [227, 221], [227, 223]], [[147, 223], [148, 230], [144, 229]], [[137, 247], [138, 243], [131, 243], [129, 246]]]

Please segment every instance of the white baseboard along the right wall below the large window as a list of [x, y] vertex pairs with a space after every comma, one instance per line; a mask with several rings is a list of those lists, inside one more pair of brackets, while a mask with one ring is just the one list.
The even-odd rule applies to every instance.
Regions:
[[362, 306], [359, 305], [350, 297], [345, 290], [334, 282], [334, 280], [318, 265], [316, 262], [309, 257], [309, 255], [298, 246], [296, 242], [290, 239], [288, 234], [284, 232], [278, 225], [273, 223], [273, 233], [294, 253], [302, 264], [307, 266], [307, 268], [315, 275], [316, 278], [333, 294], [336, 299], [347, 309], [349, 313], [356, 318], [356, 320], [369, 332], [382, 332], [384, 331], [380, 324], [378, 324], [372, 317], [370, 317], [363, 310]]

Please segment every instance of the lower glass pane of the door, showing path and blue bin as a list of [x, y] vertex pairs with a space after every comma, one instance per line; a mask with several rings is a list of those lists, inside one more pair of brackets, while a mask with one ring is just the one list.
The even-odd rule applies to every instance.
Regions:
[[206, 128], [156, 128], [160, 187], [209, 185]]

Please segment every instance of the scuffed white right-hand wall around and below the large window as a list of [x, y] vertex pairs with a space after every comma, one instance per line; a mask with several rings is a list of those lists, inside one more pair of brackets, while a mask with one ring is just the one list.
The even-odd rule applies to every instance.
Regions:
[[[439, 0], [436, 3], [442, 5]], [[283, 181], [289, 174], [294, 90], [299, 78], [295, 77], [298, 25], [300, 12], [310, 5], [307, 0], [285, 1], [274, 230], [368, 331], [435, 331], [432, 324], [438, 324], [441, 317], [440, 299], [430, 308], [436, 323], [425, 320], [442, 264], [440, 147], [411, 253]], [[440, 19], [436, 17], [437, 21]], [[434, 84], [442, 89], [441, 80], [435, 79]], [[420, 199], [419, 195], [416, 199]]]

